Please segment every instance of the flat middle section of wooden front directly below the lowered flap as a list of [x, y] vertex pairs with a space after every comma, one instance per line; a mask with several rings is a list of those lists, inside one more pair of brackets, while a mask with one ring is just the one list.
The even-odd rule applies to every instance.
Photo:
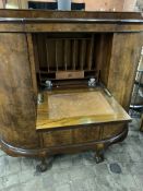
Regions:
[[99, 140], [99, 127], [84, 127], [43, 133], [44, 146], [81, 144]]

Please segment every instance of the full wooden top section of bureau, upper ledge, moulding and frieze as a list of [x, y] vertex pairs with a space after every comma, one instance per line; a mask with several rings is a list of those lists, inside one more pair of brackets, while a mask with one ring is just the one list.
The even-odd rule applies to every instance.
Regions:
[[0, 10], [0, 32], [143, 32], [143, 15], [141, 12]]

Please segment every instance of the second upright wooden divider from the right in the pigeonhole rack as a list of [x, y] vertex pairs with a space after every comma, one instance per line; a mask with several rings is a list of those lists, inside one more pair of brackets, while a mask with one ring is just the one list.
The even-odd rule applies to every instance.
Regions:
[[86, 56], [86, 40], [81, 39], [80, 43], [81, 43], [80, 44], [81, 45], [81, 49], [80, 49], [80, 69], [83, 70], [84, 64], [85, 64], [85, 56]]

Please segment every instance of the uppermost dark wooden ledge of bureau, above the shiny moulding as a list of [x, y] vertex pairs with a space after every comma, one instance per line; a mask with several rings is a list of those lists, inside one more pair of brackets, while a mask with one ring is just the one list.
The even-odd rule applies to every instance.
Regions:
[[3, 10], [0, 9], [0, 17], [11, 17], [11, 19], [24, 19], [28, 21], [28, 19], [47, 19], [57, 20], [57, 21], [93, 21], [96, 22], [98, 20], [103, 20], [106, 22], [119, 21], [120, 22], [129, 22], [129, 21], [139, 21], [142, 22], [143, 15], [142, 12], [87, 12], [87, 11], [49, 11], [49, 10]]

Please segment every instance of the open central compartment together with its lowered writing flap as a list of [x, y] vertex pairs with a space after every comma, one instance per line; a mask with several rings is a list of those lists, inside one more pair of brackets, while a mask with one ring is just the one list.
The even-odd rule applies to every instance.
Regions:
[[37, 130], [130, 120], [106, 89], [111, 33], [35, 33], [33, 44]]

